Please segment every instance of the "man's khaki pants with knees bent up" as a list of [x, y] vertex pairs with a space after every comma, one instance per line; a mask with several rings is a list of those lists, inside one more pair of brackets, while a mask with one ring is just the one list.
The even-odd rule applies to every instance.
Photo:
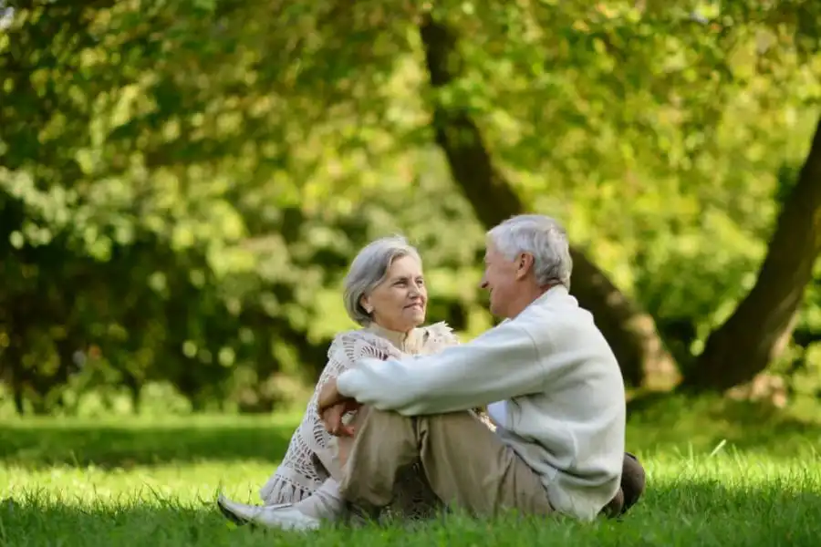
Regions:
[[466, 411], [406, 418], [369, 408], [347, 459], [340, 490], [362, 507], [388, 505], [399, 470], [418, 461], [442, 502], [474, 516], [553, 512], [535, 472]]

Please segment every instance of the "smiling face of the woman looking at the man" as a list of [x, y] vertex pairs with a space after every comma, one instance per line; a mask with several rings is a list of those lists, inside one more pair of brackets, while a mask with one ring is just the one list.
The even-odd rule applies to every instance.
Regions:
[[385, 281], [362, 296], [360, 304], [382, 328], [407, 333], [421, 325], [428, 305], [421, 264], [412, 256], [394, 260]]

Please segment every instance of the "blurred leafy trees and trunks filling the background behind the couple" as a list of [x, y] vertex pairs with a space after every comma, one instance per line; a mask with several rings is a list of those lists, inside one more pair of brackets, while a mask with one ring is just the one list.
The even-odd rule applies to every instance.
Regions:
[[270, 411], [360, 246], [407, 234], [469, 338], [519, 212], [634, 394], [821, 397], [815, 4], [6, 2], [3, 400]]

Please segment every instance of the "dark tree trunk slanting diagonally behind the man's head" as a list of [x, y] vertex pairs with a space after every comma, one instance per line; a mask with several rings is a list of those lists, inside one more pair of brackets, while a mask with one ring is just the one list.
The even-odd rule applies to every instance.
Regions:
[[[425, 60], [434, 89], [449, 85], [460, 72], [456, 41], [442, 23], [425, 15], [420, 26]], [[453, 179], [487, 228], [525, 212], [525, 204], [504, 175], [494, 167], [490, 152], [471, 116], [461, 108], [433, 104], [436, 143], [444, 151]], [[577, 248], [571, 292], [595, 317], [618, 357], [627, 383], [635, 387], [669, 389], [679, 380], [678, 369], [664, 348], [655, 322], [642, 313], [607, 275]]]

